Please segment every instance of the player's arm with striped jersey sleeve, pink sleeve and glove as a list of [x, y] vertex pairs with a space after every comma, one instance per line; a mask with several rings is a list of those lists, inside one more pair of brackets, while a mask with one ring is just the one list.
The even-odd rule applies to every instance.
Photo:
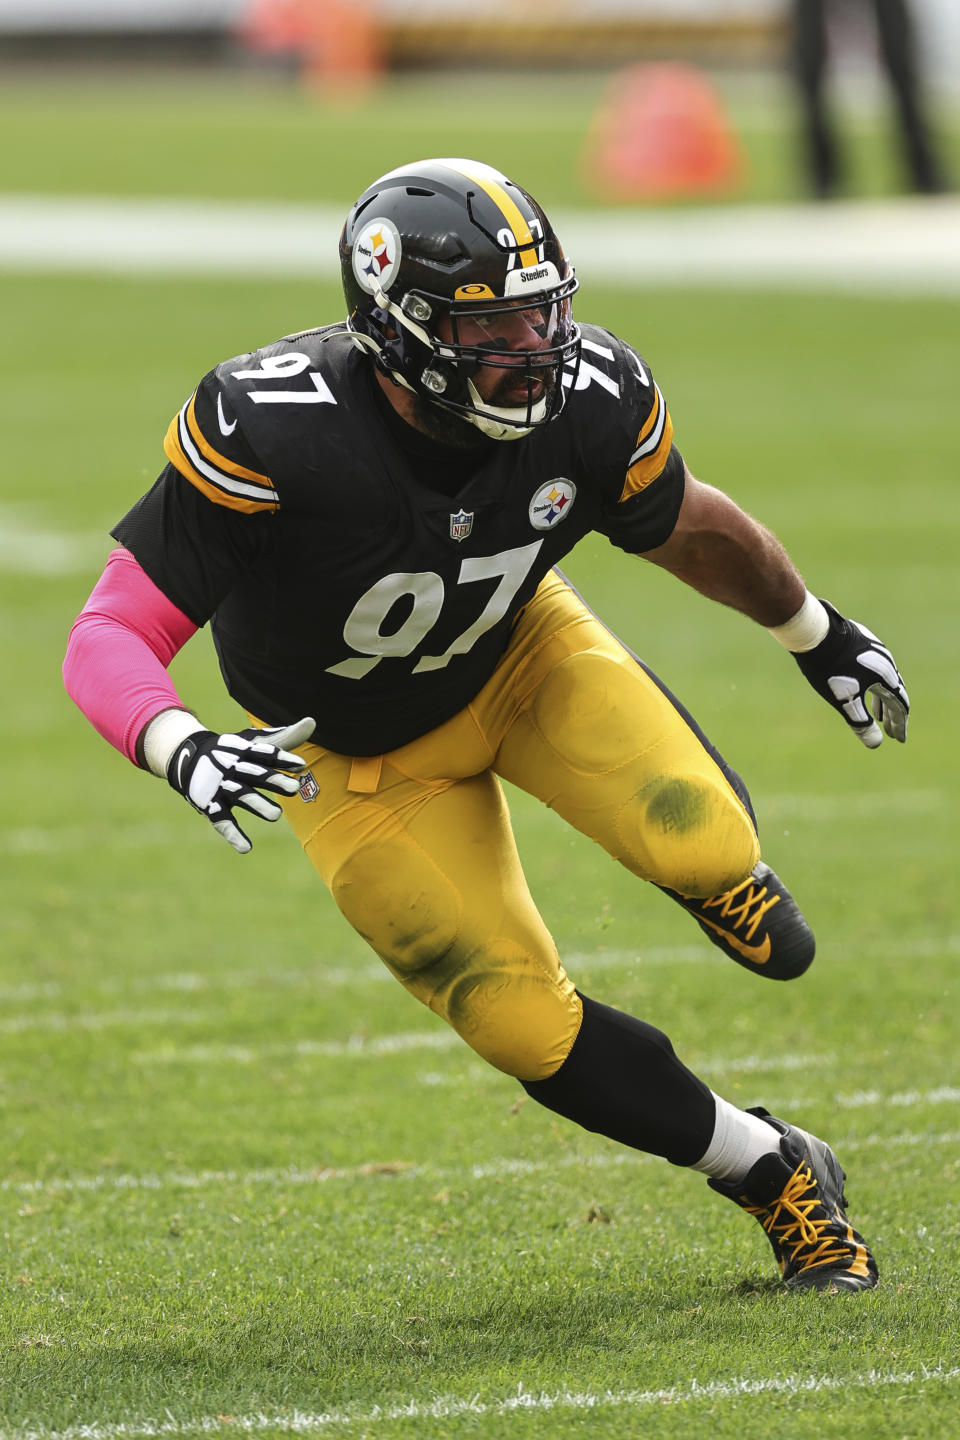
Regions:
[[[209, 433], [213, 423], [219, 445]], [[216, 373], [171, 422], [166, 449], [171, 464], [114, 531], [121, 549], [71, 631], [63, 678], [115, 749], [163, 775], [243, 854], [252, 847], [233, 808], [279, 818], [279, 806], [261, 792], [295, 793], [296, 779], [282, 772], [302, 762], [285, 747], [308, 739], [314, 721], [275, 733], [207, 730], [180, 700], [167, 667], [237, 573], [256, 562], [261, 517], [278, 508], [279, 497], [226, 418]]]

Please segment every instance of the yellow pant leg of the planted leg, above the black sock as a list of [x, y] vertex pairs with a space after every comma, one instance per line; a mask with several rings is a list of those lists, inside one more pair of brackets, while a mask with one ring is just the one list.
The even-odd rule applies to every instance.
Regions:
[[301, 795], [281, 805], [354, 930], [489, 1064], [518, 1079], [556, 1071], [580, 999], [469, 716], [384, 756], [299, 753]]

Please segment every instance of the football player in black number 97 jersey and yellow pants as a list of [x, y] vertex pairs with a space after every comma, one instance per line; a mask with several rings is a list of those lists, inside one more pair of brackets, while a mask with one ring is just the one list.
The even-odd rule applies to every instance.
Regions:
[[[743, 780], [557, 564], [596, 530], [741, 611], [871, 747], [907, 733], [889, 651], [689, 474], [646, 360], [574, 323], [576, 275], [520, 186], [471, 160], [403, 166], [353, 206], [340, 256], [345, 321], [223, 361], [170, 422], [73, 626], [68, 690], [239, 852], [243, 812], [284, 814], [400, 984], [541, 1104], [705, 1174], [790, 1286], [874, 1286], [828, 1145], [576, 989], [499, 782], [730, 959], [793, 979], [813, 936]], [[167, 675], [207, 622], [237, 732]]]

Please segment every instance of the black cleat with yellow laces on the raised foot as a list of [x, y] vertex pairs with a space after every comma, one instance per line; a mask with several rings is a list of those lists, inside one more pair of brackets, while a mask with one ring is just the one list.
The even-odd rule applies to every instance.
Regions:
[[[662, 888], [662, 887], [661, 887]], [[694, 916], [704, 935], [737, 965], [771, 981], [792, 981], [816, 952], [813, 930], [777, 873], [763, 860], [753, 874], [708, 900], [665, 890]]]

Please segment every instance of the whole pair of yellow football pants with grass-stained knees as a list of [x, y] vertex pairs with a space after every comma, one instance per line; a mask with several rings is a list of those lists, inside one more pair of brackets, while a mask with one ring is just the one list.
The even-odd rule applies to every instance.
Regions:
[[521, 1080], [560, 1068], [581, 1007], [498, 776], [682, 894], [728, 890], [760, 855], [697, 733], [556, 575], [459, 714], [383, 756], [299, 753], [318, 793], [284, 811], [347, 920], [412, 995]]

